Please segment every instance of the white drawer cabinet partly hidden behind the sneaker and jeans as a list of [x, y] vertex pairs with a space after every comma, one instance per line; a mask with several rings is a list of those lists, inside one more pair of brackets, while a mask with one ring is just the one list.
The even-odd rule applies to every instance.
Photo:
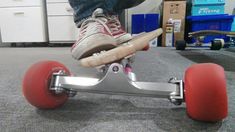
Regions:
[[47, 1], [48, 31], [51, 43], [76, 41], [78, 29], [73, 21], [73, 9], [67, 0]]

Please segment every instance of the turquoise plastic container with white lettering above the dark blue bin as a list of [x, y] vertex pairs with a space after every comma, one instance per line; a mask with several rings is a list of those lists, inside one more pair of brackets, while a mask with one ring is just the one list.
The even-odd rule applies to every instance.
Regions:
[[224, 14], [225, 0], [193, 0], [192, 16]]

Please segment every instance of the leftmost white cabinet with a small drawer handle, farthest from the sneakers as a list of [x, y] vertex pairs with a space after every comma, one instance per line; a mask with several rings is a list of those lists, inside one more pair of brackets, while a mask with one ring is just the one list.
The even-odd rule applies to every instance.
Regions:
[[41, 0], [1, 0], [3, 43], [46, 42], [45, 8]]

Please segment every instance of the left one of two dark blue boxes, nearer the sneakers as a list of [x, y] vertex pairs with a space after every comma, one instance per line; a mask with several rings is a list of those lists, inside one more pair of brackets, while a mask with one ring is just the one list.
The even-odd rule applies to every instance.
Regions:
[[139, 34], [144, 32], [145, 28], [145, 15], [144, 14], [134, 14], [132, 15], [131, 21], [131, 33]]

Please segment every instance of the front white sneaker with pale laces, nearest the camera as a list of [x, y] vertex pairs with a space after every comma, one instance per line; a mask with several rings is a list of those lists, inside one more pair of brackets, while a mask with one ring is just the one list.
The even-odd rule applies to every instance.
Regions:
[[78, 40], [71, 49], [73, 58], [80, 60], [117, 46], [117, 40], [113, 37], [107, 22], [108, 19], [100, 9], [97, 9], [91, 18], [82, 23]]

